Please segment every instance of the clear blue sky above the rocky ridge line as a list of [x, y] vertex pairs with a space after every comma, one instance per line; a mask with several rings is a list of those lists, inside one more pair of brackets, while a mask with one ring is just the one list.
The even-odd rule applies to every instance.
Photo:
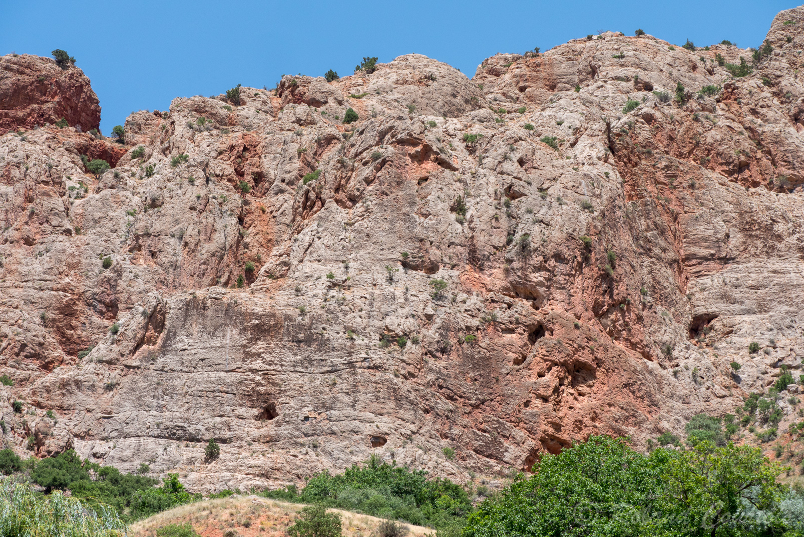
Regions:
[[[798, 0], [804, 2], [804, 0]], [[600, 30], [757, 47], [796, 2], [0, 2], [0, 55], [61, 48], [92, 80], [101, 130], [177, 96], [273, 87], [282, 74], [351, 75], [363, 56], [417, 52], [469, 75], [497, 52], [546, 51]]]

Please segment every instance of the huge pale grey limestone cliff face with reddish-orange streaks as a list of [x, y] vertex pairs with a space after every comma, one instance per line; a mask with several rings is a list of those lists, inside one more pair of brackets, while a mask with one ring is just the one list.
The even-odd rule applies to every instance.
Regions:
[[751, 51], [605, 33], [180, 98], [122, 149], [0, 137], [6, 443], [208, 491], [733, 412], [804, 356], [802, 29], [740, 78]]

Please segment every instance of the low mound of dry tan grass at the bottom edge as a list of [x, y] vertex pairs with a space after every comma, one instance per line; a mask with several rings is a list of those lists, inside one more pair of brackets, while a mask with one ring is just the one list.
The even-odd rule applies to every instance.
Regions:
[[[301, 503], [279, 502], [269, 498], [248, 496], [222, 498], [188, 503], [162, 511], [157, 515], [133, 523], [129, 529], [133, 537], [155, 537], [160, 527], [168, 524], [191, 523], [203, 537], [285, 537], [287, 529], [298, 519]], [[343, 537], [368, 537], [383, 521], [369, 515], [331, 509], [343, 518]], [[412, 526], [408, 537], [434, 537], [429, 527]], [[228, 533], [228, 532], [234, 532]]]

